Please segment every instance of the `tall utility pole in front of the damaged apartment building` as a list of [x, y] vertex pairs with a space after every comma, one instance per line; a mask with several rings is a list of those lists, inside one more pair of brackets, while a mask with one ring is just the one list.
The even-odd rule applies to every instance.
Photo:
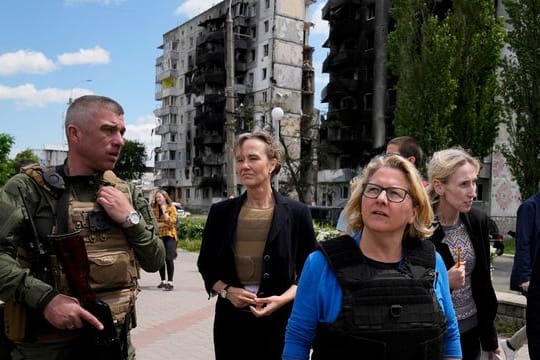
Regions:
[[229, 0], [229, 9], [225, 20], [225, 170], [227, 179], [227, 197], [236, 196], [236, 173], [234, 170], [234, 138], [236, 125], [234, 121], [234, 34], [232, 19], [232, 0]]

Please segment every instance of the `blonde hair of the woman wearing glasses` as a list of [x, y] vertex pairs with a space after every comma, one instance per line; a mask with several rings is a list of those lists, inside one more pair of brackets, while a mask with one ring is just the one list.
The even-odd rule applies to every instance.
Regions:
[[359, 177], [358, 186], [352, 193], [351, 199], [345, 206], [345, 217], [349, 227], [354, 231], [362, 231], [364, 221], [362, 219], [363, 192], [366, 184], [373, 175], [382, 168], [391, 168], [401, 171], [409, 184], [408, 191], [413, 206], [417, 209], [414, 222], [407, 227], [408, 235], [413, 238], [425, 239], [433, 233], [433, 210], [429, 203], [426, 190], [422, 185], [422, 178], [416, 167], [400, 155], [379, 155], [373, 158], [363, 169]]

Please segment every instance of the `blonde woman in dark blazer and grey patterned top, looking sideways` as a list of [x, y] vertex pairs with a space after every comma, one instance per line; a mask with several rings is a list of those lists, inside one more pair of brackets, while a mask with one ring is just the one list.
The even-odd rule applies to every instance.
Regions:
[[472, 208], [479, 171], [479, 161], [460, 148], [437, 151], [428, 164], [427, 190], [437, 222], [431, 241], [448, 269], [464, 360], [476, 360], [481, 348], [490, 360], [501, 354], [488, 217]]

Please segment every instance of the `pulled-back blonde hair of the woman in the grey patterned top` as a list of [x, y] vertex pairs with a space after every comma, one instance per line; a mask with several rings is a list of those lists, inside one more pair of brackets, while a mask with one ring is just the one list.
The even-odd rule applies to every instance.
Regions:
[[433, 153], [428, 164], [428, 179], [430, 185], [427, 187], [427, 192], [432, 205], [439, 203], [439, 195], [435, 192], [433, 181], [446, 184], [454, 173], [465, 164], [471, 164], [476, 173], [480, 172], [480, 161], [471, 156], [463, 148], [455, 147], [444, 149]]

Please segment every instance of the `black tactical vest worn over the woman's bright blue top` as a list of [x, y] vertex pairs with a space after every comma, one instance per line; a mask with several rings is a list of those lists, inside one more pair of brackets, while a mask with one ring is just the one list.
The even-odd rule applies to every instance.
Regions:
[[376, 269], [350, 236], [321, 243], [343, 296], [336, 321], [316, 330], [312, 359], [443, 358], [446, 317], [433, 289], [435, 249], [427, 241], [405, 244], [399, 269]]

